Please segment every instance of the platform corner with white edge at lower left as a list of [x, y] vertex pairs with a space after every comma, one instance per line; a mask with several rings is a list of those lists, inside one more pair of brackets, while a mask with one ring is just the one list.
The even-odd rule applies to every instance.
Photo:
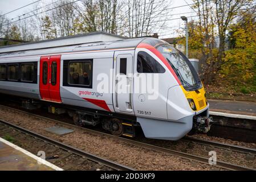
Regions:
[[[39, 162], [39, 163], [38, 163]], [[62, 171], [62, 168], [0, 138], [0, 171]]]

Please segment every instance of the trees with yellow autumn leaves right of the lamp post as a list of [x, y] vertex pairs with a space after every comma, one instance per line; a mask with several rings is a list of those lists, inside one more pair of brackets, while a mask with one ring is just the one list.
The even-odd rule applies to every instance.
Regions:
[[[255, 5], [246, 0], [194, 2], [199, 19], [188, 22], [189, 57], [200, 60], [200, 77], [206, 87], [256, 93]], [[185, 45], [185, 38], [179, 43]]]

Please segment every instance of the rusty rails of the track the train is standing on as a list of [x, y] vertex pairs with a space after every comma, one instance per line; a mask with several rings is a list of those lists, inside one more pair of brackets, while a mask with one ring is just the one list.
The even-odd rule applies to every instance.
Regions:
[[[87, 129], [87, 128], [84, 128], [84, 127], [75, 126], [75, 125], [72, 125], [70, 123], [66, 123], [66, 122], [55, 120], [55, 119], [43, 117], [42, 115], [32, 114], [32, 113], [29, 113], [27, 111], [14, 109], [13, 107], [2, 106], [2, 105], [0, 105], [0, 107], [5, 108], [5, 109], [15, 110], [18, 113], [30, 115], [30, 116], [38, 118], [38, 119], [43, 119], [43, 120], [47, 120], [47, 121], [57, 122], [57, 123], [60, 123], [62, 125], [73, 127], [73, 128], [77, 128], [77, 129], [80, 129], [80, 130], [82, 129], [82, 130], [85, 130], [85, 131], [87, 131], [89, 133], [94, 133], [94, 134], [104, 135], [104, 136], [107, 136], [107, 137], [116, 138], [116, 139], [122, 140], [123, 142], [127, 142], [129, 144], [133, 144], [133, 145], [136, 145], [136, 146], [148, 148], [149, 150], [166, 152], [168, 154], [180, 156], [181, 158], [184, 158], [184, 159], [188, 159], [188, 160], [193, 160], [193, 161], [200, 162], [200, 163], [209, 164], [208, 163], [209, 159], [205, 158], [205, 157], [202, 157], [202, 156], [188, 154], [186, 152], [181, 152], [181, 151], [177, 151], [177, 150], [171, 150], [169, 148], [160, 147], [160, 146], [156, 146], [156, 145], [149, 144], [149, 143], [138, 142], [138, 141], [132, 140], [132, 139], [115, 137], [113, 135], [110, 135], [110, 134], [107, 134], [107, 133], [102, 133], [100, 131], [96, 131], [96, 130], [91, 130], [91, 129]], [[198, 144], [203, 144], [203, 145], [207, 145], [207, 146], [211, 146], [211, 147], [223, 148], [224, 150], [229, 150], [229, 151], [233, 150], [233, 151], [237, 151], [237, 152], [243, 152], [243, 153], [246, 153], [246, 154], [253, 154], [253, 155], [256, 154], [256, 150], [254, 150], [252, 148], [246, 148], [246, 147], [241, 147], [241, 146], [234, 146], [234, 145], [224, 144], [224, 143], [219, 143], [219, 142], [206, 141], [206, 140], [196, 139], [196, 138], [192, 138], [192, 137], [186, 137], [186, 138], [184, 138], [182, 140], [184, 140], [186, 142], [195, 142], [195, 143], [198, 143]], [[217, 161], [217, 164], [214, 165], [214, 167], [220, 168], [220, 169], [239, 170], [239, 171], [255, 170], [253, 168], [248, 168], [248, 167], [244, 167], [244, 166], [238, 166], [236, 164], [226, 163], [226, 162], [222, 162], [222, 161]]]

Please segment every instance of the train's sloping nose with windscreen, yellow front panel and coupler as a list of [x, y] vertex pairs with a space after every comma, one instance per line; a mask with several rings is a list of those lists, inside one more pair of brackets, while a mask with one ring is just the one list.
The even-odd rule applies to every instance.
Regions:
[[[207, 133], [213, 122], [209, 117], [209, 103], [204, 86], [188, 58], [159, 39], [146, 39], [138, 47], [148, 49], [155, 54], [157, 61], [166, 70], [159, 81], [161, 97], [155, 101], [155, 103], [166, 102], [166, 119], [139, 118], [138, 122], [145, 137], [178, 140], [191, 130]], [[166, 96], [165, 90], [167, 90]]]

